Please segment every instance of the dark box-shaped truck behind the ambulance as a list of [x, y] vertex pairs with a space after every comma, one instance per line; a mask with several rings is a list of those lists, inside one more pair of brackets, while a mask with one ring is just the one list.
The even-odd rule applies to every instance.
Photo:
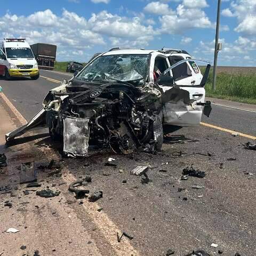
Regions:
[[30, 45], [39, 69], [53, 70], [57, 46], [54, 44], [37, 43]]

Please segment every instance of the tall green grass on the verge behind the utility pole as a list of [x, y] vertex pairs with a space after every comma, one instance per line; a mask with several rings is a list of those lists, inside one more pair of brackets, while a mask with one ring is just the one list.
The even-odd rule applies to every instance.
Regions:
[[256, 104], [256, 74], [219, 73], [212, 90], [212, 70], [205, 85], [206, 97]]

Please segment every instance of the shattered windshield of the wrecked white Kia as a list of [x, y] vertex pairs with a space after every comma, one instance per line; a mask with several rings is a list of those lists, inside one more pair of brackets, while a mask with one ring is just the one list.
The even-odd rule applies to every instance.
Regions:
[[148, 54], [100, 56], [76, 76], [86, 82], [141, 81], [147, 76]]

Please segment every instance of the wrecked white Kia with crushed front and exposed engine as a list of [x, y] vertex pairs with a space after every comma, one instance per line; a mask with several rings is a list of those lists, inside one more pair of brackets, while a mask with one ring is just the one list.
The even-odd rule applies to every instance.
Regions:
[[[174, 54], [182, 59], [173, 63]], [[204, 102], [210, 64], [202, 76], [186, 54], [166, 49], [102, 53], [52, 89], [39, 113], [6, 134], [6, 141], [47, 125], [52, 139], [60, 139], [70, 156], [87, 156], [89, 145], [117, 154], [157, 151], [163, 124], [196, 125], [203, 111], [210, 115], [210, 102]]]

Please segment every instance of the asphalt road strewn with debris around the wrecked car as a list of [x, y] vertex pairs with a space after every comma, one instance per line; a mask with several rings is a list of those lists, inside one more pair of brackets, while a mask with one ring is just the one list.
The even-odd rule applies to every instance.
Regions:
[[[63, 77], [69, 76], [42, 70], [37, 81], [2, 80], [0, 83], [7, 99], [23, 117], [29, 119], [41, 108], [47, 91], [58, 86], [58, 81]], [[63, 252], [66, 255], [73, 252], [73, 255], [93, 256], [157, 256], [166, 255], [168, 249], [173, 249], [174, 255], [185, 255], [195, 249], [205, 249], [212, 255], [218, 254], [218, 250], [223, 251], [222, 255], [229, 256], [234, 256], [236, 252], [254, 255], [256, 152], [244, 149], [242, 144], [251, 140], [250, 135], [256, 136], [256, 108], [228, 101], [213, 102], [210, 118], [202, 121], [215, 128], [206, 125], [182, 128], [173, 135], [184, 135], [186, 139], [183, 140], [187, 143], [178, 143], [175, 139], [165, 141], [163, 154], [138, 153], [127, 157], [98, 152], [86, 159], [63, 158], [65, 168], [62, 177], [55, 177], [54, 180], [45, 178], [45, 174], [41, 173], [42, 180], [47, 182], [45, 185], [62, 181], [68, 184], [75, 177], [91, 175], [92, 182], [87, 188], [90, 191], [103, 191], [103, 198], [96, 204], [84, 200], [82, 206], [79, 205], [73, 195], [67, 192], [67, 185], [59, 186], [61, 200], [38, 200], [34, 194], [26, 197], [30, 202], [26, 206], [27, 213], [17, 211], [19, 206], [16, 207], [15, 204], [18, 205], [20, 201], [16, 197], [6, 196], [4, 199], [13, 200], [14, 206], [9, 210], [4, 206], [0, 208], [0, 211], [7, 214], [1, 215], [0, 238], [4, 241], [2, 250], [12, 250], [8, 242], [10, 240], [2, 233], [4, 223], [10, 226], [18, 219], [17, 223], [24, 220], [22, 225], [28, 226], [30, 223], [31, 228], [23, 231], [24, 238], [17, 236], [17, 240], [30, 247], [33, 245], [34, 249], [43, 252], [40, 255], [45, 256], [63, 255]], [[233, 137], [227, 129], [243, 133], [245, 137]], [[50, 149], [46, 147], [50, 143], [49, 138], [36, 142], [31, 139], [26, 141], [27, 143], [19, 141], [19, 145], [14, 147], [22, 147], [18, 149], [23, 150], [28, 144], [29, 157], [33, 157], [35, 161], [50, 154]], [[42, 148], [46, 150], [45, 155], [42, 153], [44, 151], [41, 152]], [[16, 148], [14, 153], [7, 151], [6, 154], [16, 154], [17, 159], [20, 159], [20, 151], [15, 150]], [[59, 156], [54, 150], [53, 147], [51, 154]], [[181, 151], [181, 156], [176, 156], [175, 151]], [[28, 157], [27, 151], [22, 151], [22, 157]], [[108, 157], [116, 159], [116, 168], [105, 166]], [[13, 156], [11, 158], [16, 159]], [[234, 158], [234, 161], [228, 161], [228, 158]], [[12, 164], [15, 166], [15, 161]], [[191, 164], [206, 171], [206, 177], [181, 180], [182, 169]], [[151, 166], [148, 171], [151, 181], [147, 185], [141, 184], [140, 177], [130, 175], [131, 169], [138, 165]], [[166, 172], [162, 172], [163, 169]], [[124, 179], [127, 183], [123, 183]], [[201, 185], [203, 188], [193, 189], [193, 185]], [[20, 197], [20, 200], [25, 201], [24, 195]], [[70, 200], [73, 203], [68, 203]], [[39, 205], [37, 211], [33, 210], [33, 204]], [[103, 210], [97, 211], [99, 208]], [[53, 209], [59, 214], [58, 219], [52, 217]], [[38, 214], [39, 221], [34, 213]], [[14, 217], [10, 219], [12, 214]], [[21, 219], [17, 214], [21, 214]], [[75, 227], [78, 237], [73, 229], [70, 231], [71, 227]], [[63, 234], [62, 239], [58, 239], [56, 229], [59, 229], [59, 234]], [[118, 243], [117, 230], [126, 231], [134, 238], [131, 241], [125, 238]], [[41, 237], [35, 236], [38, 232], [42, 236], [41, 241], [38, 239]], [[31, 236], [35, 236], [33, 241], [29, 239]], [[70, 239], [72, 243], [69, 243]], [[88, 240], [92, 243], [87, 244]], [[212, 247], [212, 243], [218, 244], [218, 247]], [[18, 245], [14, 244], [13, 247], [15, 246]], [[80, 253], [79, 246], [83, 246]], [[12, 251], [12, 254], [6, 255], [19, 254]]]

